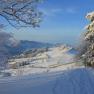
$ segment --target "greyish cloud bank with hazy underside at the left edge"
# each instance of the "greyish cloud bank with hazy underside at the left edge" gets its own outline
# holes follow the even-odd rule
[[[17,43],[11,33],[0,31],[0,67],[5,66],[10,56],[8,47],[14,47]]]

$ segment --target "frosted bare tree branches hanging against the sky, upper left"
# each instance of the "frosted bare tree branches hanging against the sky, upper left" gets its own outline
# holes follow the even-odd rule
[[[39,2],[40,0],[0,0],[0,18],[5,18],[12,26],[37,27],[42,14],[37,9]]]

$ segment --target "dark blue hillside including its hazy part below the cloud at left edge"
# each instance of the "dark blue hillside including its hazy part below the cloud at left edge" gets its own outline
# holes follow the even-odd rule
[[[0,69],[1,67],[5,67],[5,63],[7,63],[7,59],[12,56],[19,55],[27,50],[37,49],[37,48],[47,48],[52,46],[53,45],[49,43],[27,41],[27,40],[21,40],[16,46],[4,44],[0,46]]]

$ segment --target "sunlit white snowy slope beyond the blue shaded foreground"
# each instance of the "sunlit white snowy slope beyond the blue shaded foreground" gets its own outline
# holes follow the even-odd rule
[[[49,48],[48,51],[39,51],[36,56],[20,57],[10,60],[11,68],[4,70],[12,76],[39,74],[43,72],[55,72],[75,68],[75,54],[70,53],[71,47],[64,45]],[[30,54],[30,53],[29,53]],[[27,63],[24,66],[23,63]],[[66,65],[67,64],[67,65]],[[14,66],[16,66],[16,69]]]

